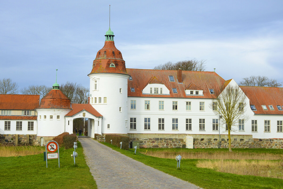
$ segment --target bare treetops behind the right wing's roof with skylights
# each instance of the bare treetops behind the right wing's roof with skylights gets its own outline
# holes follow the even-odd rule
[[[250,76],[242,78],[241,82],[239,83],[243,86],[259,86],[259,87],[280,87],[282,84],[278,82],[276,79],[269,79],[266,76]]]

